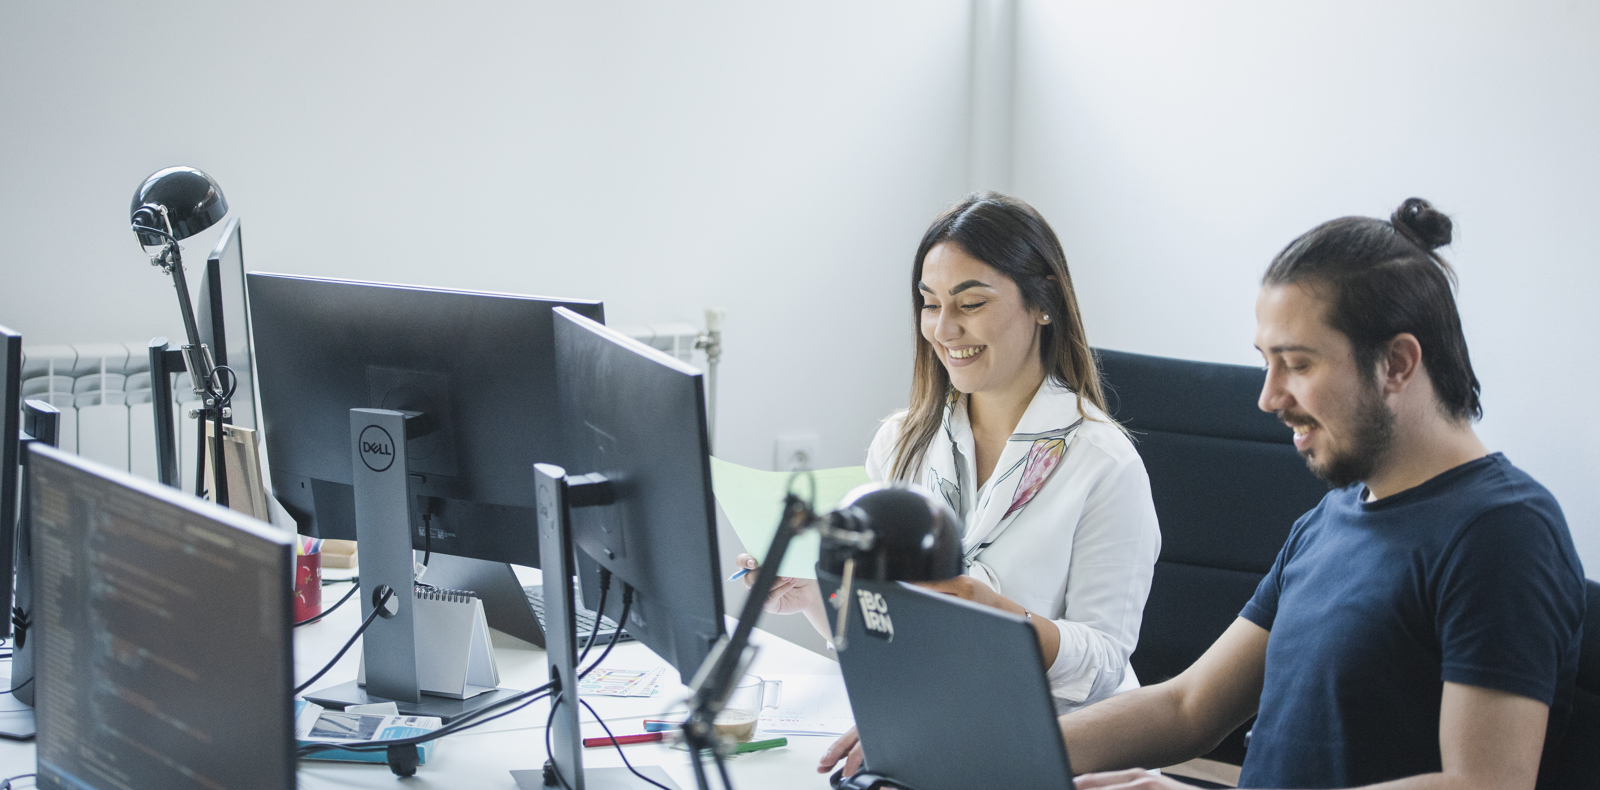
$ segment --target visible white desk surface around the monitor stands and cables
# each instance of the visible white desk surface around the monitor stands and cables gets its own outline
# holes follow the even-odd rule
[[[333,576],[333,573],[330,573]],[[328,585],[323,601],[333,604],[347,587]],[[294,630],[294,675],[304,681],[344,644],[357,625],[360,609],[347,603],[325,620]],[[730,620],[731,622],[731,620]],[[496,659],[501,686],[528,689],[549,680],[544,651],[520,640],[494,632]],[[838,676],[838,664],[784,640],[757,630],[752,641],[762,648],[752,672],[757,675],[832,675]],[[603,644],[595,651],[603,649]],[[360,644],[352,648],[339,664],[317,681],[312,691],[334,686],[355,678]],[[598,652],[595,652],[598,656]],[[5,667],[6,662],[0,662]],[[669,710],[685,710],[682,700],[686,689],[678,683],[677,672],[643,644],[629,641],[618,644],[606,659],[608,667],[653,668],[667,667],[661,691],[653,697],[584,697],[606,718],[616,734],[642,732],[640,720],[659,718]],[[6,675],[8,667],[0,668]],[[13,707],[10,696],[0,697],[0,708]],[[674,707],[675,705],[675,707]],[[315,788],[515,788],[510,771],[539,769],[544,766],[544,721],[549,715],[544,700],[499,718],[482,728],[448,736],[437,742],[432,758],[418,774],[403,784],[384,764],[301,761],[299,787]],[[597,723],[582,712],[584,737],[603,736]],[[766,752],[739,755],[728,763],[734,787],[739,790],[768,788],[826,788],[827,776],[816,772],[818,758],[834,742],[832,737],[787,736],[789,745]],[[688,755],[661,744],[635,744],[622,747],[635,766],[661,766],[683,790],[691,790],[694,771]],[[592,768],[621,768],[616,748],[586,748],[584,764]],[[707,766],[710,768],[710,766]],[[34,744],[0,740],[0,779],[34,771]],[[712,779],[712,787],[718,787]]]

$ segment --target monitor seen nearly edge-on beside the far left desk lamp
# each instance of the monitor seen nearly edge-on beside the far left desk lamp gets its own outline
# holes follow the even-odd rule
[[[218,365],[227,365],[238,379],[234,390],[230,425],[256,427],[256,390],[251,374],[250,310],[245,304],[245,253],[238,217],[222,225],[222,235],[205,261],[200,275],[200,342],[211,349]]]

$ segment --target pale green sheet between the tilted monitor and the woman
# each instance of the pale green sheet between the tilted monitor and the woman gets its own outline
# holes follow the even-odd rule
[[[784,494],[789,491],[790,475],[790,472],[741,467],[720,457],[710,459],[710,486],[717,494],[717,504],[728,517],[733,531],[739,534],[739,541],[744,542],[744,550],[757,560],[766,557],[766,547],[773,544],[773,534],[778,533],[778,518],[784,513]],[[867,467],[818,469],[811,472],[811,477],[816,480],[813,507],[819,513],[826,513],[850,489],[867,483]],[[802,478],[795,481],[795,491],[806,496],[810,486]],[[821,537],[816,531],[795,537],[789,542],[778,574],[816,579],[819,547]]]

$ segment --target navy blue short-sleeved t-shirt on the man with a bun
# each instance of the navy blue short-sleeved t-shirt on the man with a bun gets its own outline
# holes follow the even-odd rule
[[[1550,705],[1578,672],[1584,571],[1555,497],[1499,453],[1294,523],[1242,617],[1272,632],[1240,787],[1354,787],[1440,769],[1443,683]]]

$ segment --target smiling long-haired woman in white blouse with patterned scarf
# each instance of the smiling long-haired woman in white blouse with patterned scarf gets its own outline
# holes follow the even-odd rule
[[[912,403],[883,421],[867,473],[962,515],[966,574],[928,587],[1026,616],[1062,713],[1136,688],[1128,656],[1162,537],[1144,464],[1106,413],[1056,233],[1021,200],[971,195],[923,235],[910,288]],[[814,581],[779,579],[766,609],[829,633]],[[854,744],[840,739],[819,769]],[[846,771],[858,764],[859,750]]]

